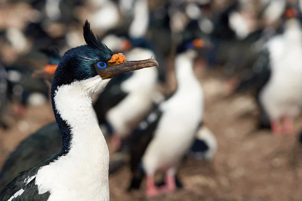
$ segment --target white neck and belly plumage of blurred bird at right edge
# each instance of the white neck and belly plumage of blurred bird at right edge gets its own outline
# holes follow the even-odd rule
[[[295,117],[302,104],[302,32],[296,20],[286,23],[283,43],[272,52],[272,75],[261,91],[260,100],[270,119]],[[274,51],[273,50],[273,51]]]

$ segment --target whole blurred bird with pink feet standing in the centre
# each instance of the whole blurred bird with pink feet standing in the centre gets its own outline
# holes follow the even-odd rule
[[[184,40],[175,59],[177,91],[149,112],[130,139],[132,179],[128,190],[139,188],[146,174],[148,196],[158,195],[154,176],[165,172],[163,191],[176,188],[177,167],[191,147],[203,116],[203,91],[193,72],[194,48],[201,48],[200,39]]]

